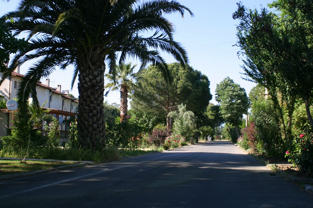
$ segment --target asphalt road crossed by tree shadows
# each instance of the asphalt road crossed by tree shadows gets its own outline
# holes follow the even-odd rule
[[[226,141],[0,181],[0,207],[313,207]]]

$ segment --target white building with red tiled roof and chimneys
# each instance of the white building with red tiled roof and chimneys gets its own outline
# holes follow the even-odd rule
[[[2,73],[0,72],[0,79]],[[12,72],[10,77],[7,77],[0,86],[0,94],[4,96],[5,100],[17,97],[18,85],[24,75],[19,74],[19,68]],[[44,108],[49,109],[50,114],[54,114],[60,122],[61,137],[66,137],[67,127],[62,123],[69,116],[77,115],[75,110],[78,106],[78,101],[69,97],[69,90],[61,92],[61,85],[55,89],[50,87],[50,80],[46,79],[45,85],[41,82],[36,86],[37,97],[39,105],[42,106],[48,101]],[[6,136],[8,129],[12,127],[12,112],[9,109],[0,109],[0,137]]]

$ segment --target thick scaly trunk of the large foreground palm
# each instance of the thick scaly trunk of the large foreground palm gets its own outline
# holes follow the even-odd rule
[[[80,144],[85,149],[105,146],[104,72],[105,57],[95,49],[78,60],[78,117]]]

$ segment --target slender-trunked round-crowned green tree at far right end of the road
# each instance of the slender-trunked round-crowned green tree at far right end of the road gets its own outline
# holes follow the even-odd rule
[[[248,113],[250,105],[245,89],[226,77],[216,85],[215,94],[223,119],[235,127],[239,138],[238,125],[241,123],[242,114]]]

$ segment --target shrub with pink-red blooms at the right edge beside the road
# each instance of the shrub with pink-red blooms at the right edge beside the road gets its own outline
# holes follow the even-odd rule
[[[309,129],[294,140],[294,148],[285,152],[285,157],[302,171],[313,174],[313,131]]]

